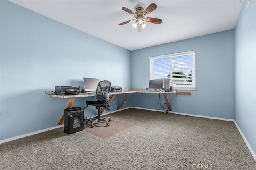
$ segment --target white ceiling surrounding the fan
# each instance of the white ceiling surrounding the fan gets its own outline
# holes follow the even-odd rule
[[[240,0],[11,2],[131,51],[233,29],[243,4]],[[145,9],[151,3],[156,3],[158,8],[147,16],[162,19],[162,24],[146,22],[147,27],[142,32],[132,28],[132,22],[118,25],[134,19],[122,7],[135,12],[138,4]]]

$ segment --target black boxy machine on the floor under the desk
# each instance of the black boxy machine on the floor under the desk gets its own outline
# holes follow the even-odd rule
[[[64,132],[72,134],[84,130],[84,109],[71,107],[64,110]]]

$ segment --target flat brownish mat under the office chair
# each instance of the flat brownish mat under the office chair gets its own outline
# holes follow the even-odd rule
[[[84,130],[86,132],[103,139],[109,138],[129,127],[132,127],[132,125],[114,120],[109,122],[109,126],[106,125],[105,121],[95,122],[93,128],[91,127],[91,121],[89,123],[84,123]]]

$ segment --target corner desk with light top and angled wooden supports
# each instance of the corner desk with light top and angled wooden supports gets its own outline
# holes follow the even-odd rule
[[[170,106],[170,103],[169,103],[169,100],[168,100],[168,97],[167,97],[167,94],[168,93],[176,93],[175,91],[172,91],[172,92],[162,92],[162,91],[158,91],[158,92],[152,92],[152,91],[145,91],[145,90],[135,90],[135,91],[124,91],[124,92],[111,92],[111,97],[109,99],[109,103],[111,103],[111,101],[114,99],[114,97],[118,94],[127,94],[126,98],[122,101],[122,103],[117,107],[117,110],[119,110],[122,105],[126,102],[126,100],[130,97],[130,95],[132,93],[163,93],[164,95],[164,99],[166,101],[166,104],[167,104],[167,107],[169,109],[169,111],[172,111],[172,108]],[[57,97],[57,98],[62,98],[62,99],[66,99],[66,98],[69,98],[68,100],[68,103],[65,107],[65,109],[67,108],[70,108],[72,106],[72,104],[74,103],[75,99],[77,97],[92,97],[92,96],[95,96],[95,93],[91,93],[91,94],[86,94],[86,93],[82,93],[82,94],[79,94],[79,95],[50,95],[51,97]],[[102,114],[103,112],[105,111],[105,108],[102,109],[101,113]],[[58,124],[57,125],[62,125],[62,122],[64,121],[64,111],[58,121]]]

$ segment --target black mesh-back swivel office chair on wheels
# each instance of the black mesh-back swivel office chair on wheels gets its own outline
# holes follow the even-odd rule
[[[111,82],[108,80],[103,80],[98,83],[97,90],[96,90],[96,99],[97,101],[86,101],[87,105],[96,106],[96,109],[98,109],[98,115],[96,118],[89,118],[86,119],[86,123],[89,123],[89,120],[92,121],[91,127],[94,127],[94,123],[96,121],[105,121],[107,123],[107,126],[109,126],[108,121],[110,122],[111,119],[109,117],[100,117],[100,108],[105,107],[106,110],[109,110],[109,99],[110,99],[110,89],[111,89]],[[108,121],[105,119],[108,118]]]

